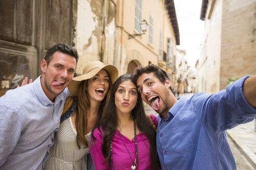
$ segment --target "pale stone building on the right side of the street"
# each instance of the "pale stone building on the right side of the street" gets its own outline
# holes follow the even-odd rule
[[[225,89],[229,78],[256,74],[255,6],[255,0],[202,1],[199,92],[213,93]]]

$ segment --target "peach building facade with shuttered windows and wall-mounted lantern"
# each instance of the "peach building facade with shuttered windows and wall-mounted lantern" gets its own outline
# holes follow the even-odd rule
[[[134,68],[157,64],[174,76],[174,58],[180,36],[173,1],[136,0],[117,1],[116,32],[118,35],[114,56],[121,74]],[[140,23],[147,22],[147,31]],[[174,81],[172,81],[174,82]]]

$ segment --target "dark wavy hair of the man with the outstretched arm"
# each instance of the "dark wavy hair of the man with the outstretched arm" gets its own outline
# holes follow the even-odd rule
[[[155,64],[149,64],[149,65],[147,65],[145,67],[139,66],[139,67],[137,67],[134,70],[134,72],[132,74],[132,81],[133,81],[133,83],[135,83],[137,85],[137,79],[138,79],[139,76],[141,76],[144,73],[151,73],[151,72],[153,72],[153,74],[163,84],[165,82],[165,78],[168,78],[170,80],[168,74],[162,68],[158,67]],[[170,89],[172,91],[172,87],[171,86],[170,86]]]

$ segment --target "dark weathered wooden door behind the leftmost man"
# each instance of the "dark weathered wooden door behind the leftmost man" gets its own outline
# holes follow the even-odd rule
[[[0,96],[24,78],[41,75],[46,50],[59,43],[73,45],[72,1],[0,1]]]

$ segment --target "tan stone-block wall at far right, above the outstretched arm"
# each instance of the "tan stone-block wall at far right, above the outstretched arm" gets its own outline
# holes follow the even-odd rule
[[[256,1],[223,1],[220,89],[228,78],[256,74]]]

